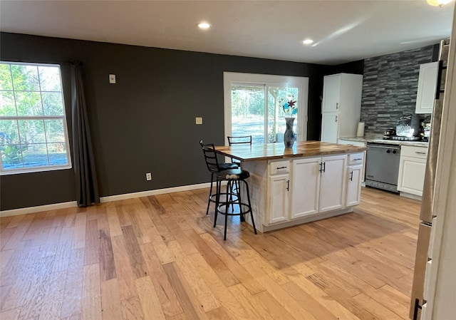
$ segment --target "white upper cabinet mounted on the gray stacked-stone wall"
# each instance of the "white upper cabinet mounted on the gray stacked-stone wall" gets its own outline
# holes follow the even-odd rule
[[[416,94],[415,113],[432,113],[437,87],[439,62],[423,63],[420,65],[418,92]]]

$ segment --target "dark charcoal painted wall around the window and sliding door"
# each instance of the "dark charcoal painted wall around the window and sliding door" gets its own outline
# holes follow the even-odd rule
[[[332,67],[113,43],[1,33],[1,59],[83,61],[100,195],[209,180],[198,141],[224,143],[223,72],[308,76],[309,140],[320,134],[323,75]],[[68,64],[63,86],[70,107]],[[108,83],[115,73],[117,83]],[[71,125],[71,112],[67,109]],[[204,125],[195,125],[195,117]],[[71,133],[70,133],[71,134]],[[152,172],[153,180],[145,180]],[[73,170],[4,175],[0,209],[76,199]]]

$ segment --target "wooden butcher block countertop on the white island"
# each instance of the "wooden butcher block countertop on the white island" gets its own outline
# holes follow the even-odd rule
[[[356,153],[366,150],[354,145],[338,145],[320,141],[296,142],[294,147],[286,149],[284,143],[266,143],[264,145],[217,146],[217,153],[240,161],[273,160],[285,158],[309,157],[312,155],[336,155]]]

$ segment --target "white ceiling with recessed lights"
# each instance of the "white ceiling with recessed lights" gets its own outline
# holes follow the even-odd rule
[[[454,4],[401,1],[0,1],[0,29],[338,64],[450,36]],[[212,28],[200,31],[199,21]],[[304,38],[314,46],[304,46]]]

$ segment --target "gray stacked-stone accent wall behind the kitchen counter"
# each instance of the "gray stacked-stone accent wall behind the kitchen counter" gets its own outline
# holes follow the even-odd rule
[[[414,114],[420,64],[436,60],[438,45],[364,60],[361,121],[383,134],[400,115]]]

